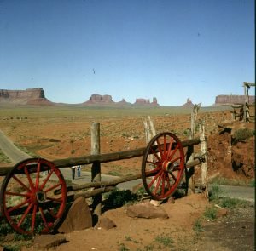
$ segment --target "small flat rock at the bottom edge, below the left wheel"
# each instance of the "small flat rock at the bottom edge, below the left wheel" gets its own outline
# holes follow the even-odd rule
[[[62,243],[65,242],[67,242],[66,237],[61,234],[42,235],[35,237],[33,247],[38,250],[49,249],[56,246],[60,246]]]

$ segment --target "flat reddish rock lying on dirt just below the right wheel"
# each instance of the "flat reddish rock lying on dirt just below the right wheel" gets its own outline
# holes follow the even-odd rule
[[[130,206],[126,210],[126,214],[130,217],[138,217],[138,218],[146,218],[146,219],[154,219],[154,218],[169,218],[166,211],[162,208],[156,208],[148,203],[139,203]]]

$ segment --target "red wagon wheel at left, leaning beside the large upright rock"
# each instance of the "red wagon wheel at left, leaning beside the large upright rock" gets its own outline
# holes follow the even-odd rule
[[[60,195],[54,190],[61,189]],[[47,233],[61,222],[67,202],[67,186],[61,171],[43,158],[20,163],[3,180],[1,213],[21,233]]]

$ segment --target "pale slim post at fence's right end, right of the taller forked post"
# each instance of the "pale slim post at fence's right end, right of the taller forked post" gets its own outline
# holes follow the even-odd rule
[[[207,140],[205,136],[205,125],[201,121],[199,124],[200,129],[200,141],[201,141],[201,153],[204,154],[204,162],[201,163],[201,187],[205,193],[205,197],[208,195],[208,178],[207,178]]]

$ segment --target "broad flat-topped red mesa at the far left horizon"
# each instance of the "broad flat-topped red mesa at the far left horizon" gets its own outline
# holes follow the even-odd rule
[[[43,88],[27,88],[26,90],[0,89],[0,103],[52,105],[52,103],[45,98]]]

